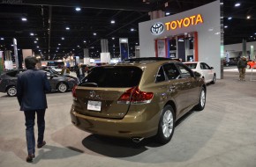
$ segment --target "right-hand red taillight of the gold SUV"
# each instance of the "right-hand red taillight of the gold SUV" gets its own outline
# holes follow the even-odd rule
[[[153,92],[140,91],[138,87],[133,87],[124,92],[118,99],[118,104],[147,104],[154,96]]]

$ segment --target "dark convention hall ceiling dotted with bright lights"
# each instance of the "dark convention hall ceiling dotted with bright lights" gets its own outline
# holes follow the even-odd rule
[[[139,22],[150,19],[148,12],[162,10],[173,15],[211,2],[214,1],[1,0],[0,48],[13,50],[15,38],[19,52],[31,48],[35,54],[58,58],[82,56],[83,48],[89,48],[91,57],[99,57],[101,39],[108,39],[109,52],[118,56],[119,38],[128,38],[131,50],[139,46]],[[240,5],[235,6],[237,3]],[[225,45],[241,43],[243,39],[255,41],[256,1],[224,0],[223,16]]]

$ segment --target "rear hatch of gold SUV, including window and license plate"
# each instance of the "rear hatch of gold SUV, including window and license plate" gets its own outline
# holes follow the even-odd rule
[[[136,66],[102,66],[91,69],[81,84],[73,89],[75,111],[94,117],[124,118],[131,104],[134,90],[131,88],[138,88],[142,73],[142,69]],[[129,98],[129,101],[124,98]]]

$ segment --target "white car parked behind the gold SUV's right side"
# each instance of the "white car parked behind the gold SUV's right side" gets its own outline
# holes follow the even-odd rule
[[[213,67],[210,67],[206,62],[184,62],[190,69],[197,71],[205,79],[206,84],[215,84],[216,73]]]

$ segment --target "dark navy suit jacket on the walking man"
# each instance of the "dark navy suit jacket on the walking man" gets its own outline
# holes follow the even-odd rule
[[[18,75],[17,98],[20,111],[47,108],[46,92],[50,84],[46,73],[38,69],[27,69]]]

